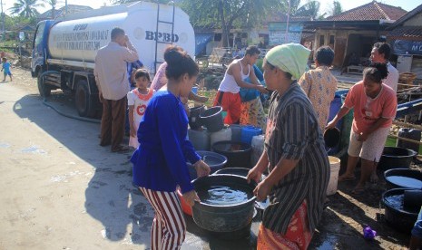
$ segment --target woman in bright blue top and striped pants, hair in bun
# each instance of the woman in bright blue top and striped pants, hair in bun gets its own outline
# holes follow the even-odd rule
[[[181,97],[191,92],[199,72],[198,65],[180,47],[164,52],[167,90],[152,97],[138,129],[140,146],[132,155],[133,182],[155,211],[151,229],[152,249],[179,249],[186,234],[176,187],[193,206],[199,201],[191,185],[186,161],[196,168],[198,177],[210,174],[210,167],[195,152],[187,139],[188,117]]]

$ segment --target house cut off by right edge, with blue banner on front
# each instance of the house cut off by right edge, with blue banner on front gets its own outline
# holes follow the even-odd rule
[[[414,72],[422,80],[422,5],[399,18],[388,31],[398,72]]]

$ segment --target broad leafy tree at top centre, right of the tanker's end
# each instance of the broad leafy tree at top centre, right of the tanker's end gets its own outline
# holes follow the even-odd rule
[[[221,28],[222,46],[229,46],[233,27],[259,24],[270,13],[285,9],[280,0],[182,0],[182,9],[189,14],[193,26]]]

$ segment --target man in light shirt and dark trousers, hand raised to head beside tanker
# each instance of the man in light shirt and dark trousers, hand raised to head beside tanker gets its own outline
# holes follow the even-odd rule
[[[129,150],[121,145],[126,94],[131,90],[126,66],[136,62],[139,56],[123,29],[113,28],[111,37],[112,41],[98,51],[93,69],[100,101],[103,102],[100,145],[112,145],[113,152],[123,152]]]

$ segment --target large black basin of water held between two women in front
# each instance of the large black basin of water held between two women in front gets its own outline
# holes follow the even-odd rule
[[[195,190],[198,192],[201,202],[195,202],[192,207],[193,221],[196,225],[211,232],[237,232],[245,227],[250,228],[254,214],[253,189],[256,184],[248,184],[246,178],[233,175],[212,175],[192,180]],[[212,187],[231,187],[239,189],[248,194],[248,197],[241,199],[239,203],[230,205],[214,205],[204,202],[204,190]],[[205,195],[206,196],[206,195]]]

